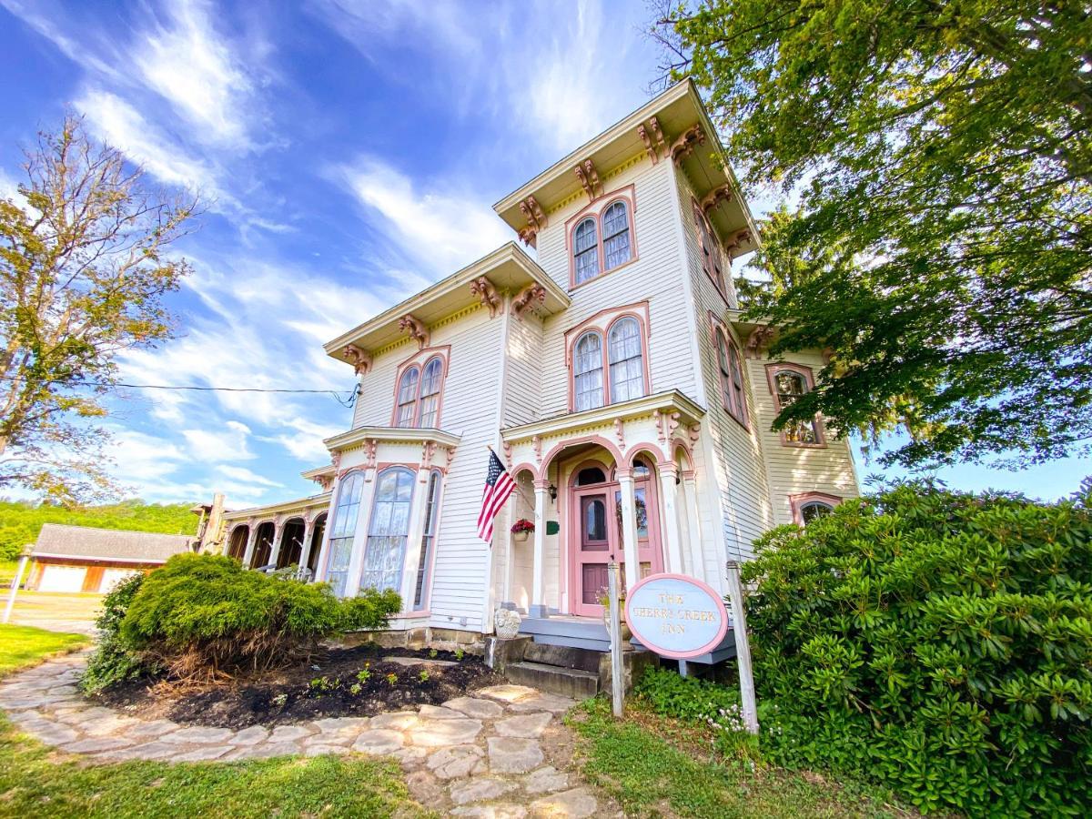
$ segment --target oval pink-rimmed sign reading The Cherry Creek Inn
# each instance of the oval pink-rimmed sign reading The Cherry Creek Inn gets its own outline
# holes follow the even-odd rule
[[[721,595],[700,580],[650,574],[626,595],[626,622],[649,651],[687,660],[720,645],[728,613]]]

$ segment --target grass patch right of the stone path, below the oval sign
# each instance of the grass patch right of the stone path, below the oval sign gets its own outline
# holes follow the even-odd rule
[[[717,759],[709,740],[680,724],[638,709],[615,722],[605,700],[568,717],[580,737],[583,773],[607,791],[627,816],[656,817],[899,817],[907,811],[853,783],[831,783],[756,764]],[[757,755],[755,755],[757,756]]]

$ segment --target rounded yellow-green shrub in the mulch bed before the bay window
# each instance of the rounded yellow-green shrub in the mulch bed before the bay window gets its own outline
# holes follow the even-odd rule
[[[399,595],[337,600],[324,583],[268,577],[212,555],[176,555],[149,574],[121,639],[179,679],[211,680],[308,656],[347,629],[382,628]]]

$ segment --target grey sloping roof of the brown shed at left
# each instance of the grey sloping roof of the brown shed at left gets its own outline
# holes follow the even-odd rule
[[[132,563],[162,563],[171,555],[190,550],[189,535],[129,532],[45,523],[33,557],[73,557],[84,560],[115,560]]]

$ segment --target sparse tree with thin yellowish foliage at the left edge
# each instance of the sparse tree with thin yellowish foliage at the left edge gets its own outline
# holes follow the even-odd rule
[[[170,335],[163,296],[189,265],[167,251],[195,201],[150,189],[74,116],[24,169],[25,201],[0,199],[0,487],[71,505],[112,489],[95,419],[118,354]]]

